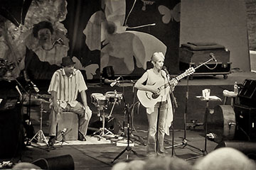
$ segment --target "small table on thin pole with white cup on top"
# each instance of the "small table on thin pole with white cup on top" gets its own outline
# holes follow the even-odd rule
[[[204,124],[205,124],[205,148],[204,153],[208,154],[207,152],[207,110],[209,108],[209,101],[221,101],[221,98],[218,96],[209,96],[209,98],[203,98],[203,96],[196,96],[196,98],[199,98],[201,101],[206,101],[206,113],[204,118]]]

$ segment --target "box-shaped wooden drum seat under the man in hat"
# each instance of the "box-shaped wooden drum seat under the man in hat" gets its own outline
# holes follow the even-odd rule
[[[60,121],[57,127],[57,140],[62,140],[61,131],[66,129],[65,140],[78,140],[78,115],[72,112],[60,114]]]

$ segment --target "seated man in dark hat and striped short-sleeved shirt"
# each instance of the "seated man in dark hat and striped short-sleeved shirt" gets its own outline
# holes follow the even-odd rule
[[[48,144],[54,145],[56,135],[56,125],[60,120],[62,112],[72,112],[78,114],[78,140],[85,141],[88,124],[92,116],[92,111],[87,106],[85,91],[87,86],[80,70],[75,69],[75,62],[70,57],[63,57],[62,67],[54,72],[50,81],[48,93],[51,94],[53,106],[51,107],[49,121],[50,139]],[[82,103],[76,101],[78,91],[81,94]]]

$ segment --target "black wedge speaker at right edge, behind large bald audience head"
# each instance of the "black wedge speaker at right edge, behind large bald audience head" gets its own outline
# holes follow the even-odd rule
[[[243,142],[243,141],[223,141],[220,142],[215,149],[220,147],[232,147],[234,149],[238,149],[240,152],[246,154],[251,159],[255,159],[256,157],[256,142]]]

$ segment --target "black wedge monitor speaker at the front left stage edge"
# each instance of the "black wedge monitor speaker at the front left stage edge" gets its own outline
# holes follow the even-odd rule
[[[73,170],[75,169],[75,164],[73,157],[70,154],[65,154],[59,157],[41,158],[32,162],[36,166],[41,167],[41,169],[48,170]]]

